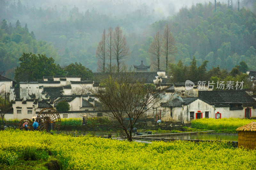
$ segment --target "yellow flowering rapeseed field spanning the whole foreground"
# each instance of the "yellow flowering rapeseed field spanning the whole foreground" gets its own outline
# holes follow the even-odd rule
[[[51,151],[64,169],[255,169],[256,151],[225,142],[137,142],[97,137],[50,135],[38,131],[0,131],[0,164],[12,162],[24,150]],[[12,156],[13,155],[13,156]]]

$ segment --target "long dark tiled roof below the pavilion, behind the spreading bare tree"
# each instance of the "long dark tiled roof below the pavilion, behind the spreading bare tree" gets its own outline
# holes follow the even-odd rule
[[[92,73],[94,80],[101,80],[108,76],[112,76],[114,78],[121,78],[124,75],[131,75],[133,80],[142,80],[145,81],[146,84],[153,84],[153,80],[156,79],[157,72],[126,72],[126,73]]]

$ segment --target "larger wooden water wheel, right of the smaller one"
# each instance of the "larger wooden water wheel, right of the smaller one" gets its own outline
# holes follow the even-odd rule
[[[39,124],[39,130],[50,131],[60,129],[60,115],[53,108],[41,110],[36,117],[36,122]]]

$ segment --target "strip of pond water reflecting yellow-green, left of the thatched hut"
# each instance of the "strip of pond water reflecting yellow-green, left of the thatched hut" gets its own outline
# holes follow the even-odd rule
[[[161,138],[168,139],[195,139],[195,140],[226,140],[238,141],[238,134],[225,134],[225,133],[203,133],[203,134],[186,134],[186,135],[165,135]]]

